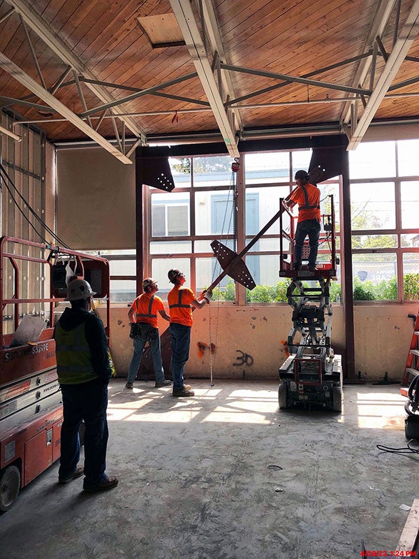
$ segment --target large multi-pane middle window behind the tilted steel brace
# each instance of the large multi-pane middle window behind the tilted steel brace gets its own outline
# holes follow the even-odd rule
[[[244,155],[244,245],[249,244],[260,228],[279,211],[280,198],[288,196],[295,187],[295,170],[307,169],[310,159],[311,150]],[[159,194],[155,189],[145,189],[145,205],[147,207],[148,200],[152,208],[152,224],[147,242],[148,269],[152,270],[153,277],[160,280],[159,295],[163,299],[170,289],[170,286],[164,287],[170,268],[182,269],[187,284],[197,294],[221,274],[222,268],[210,247],[212,240],[219,240],[238,252],[234,240],[238,204],[234,197],[236,177],[231,172],[232,161],[225,156],[170,160],[176,191],[168,195]],[[330,181],[322,184],[321,188],[324,191],[322,212],[330,211],[328,195],[334,194],[339,215],[339,182]],[[170,208],[181,203],[185,204],[185,208],[189,203],[189,226],[184,221],[182,230],[179,228],[175,234],[169,235],[167,216]],[[182,240],[181,236],[186,237],[187,241],[186,238]],[[181,243],[189,243],[189,246]],[[319,259],[324,258],[326,255],[320,251]],[[286,303],[288,281],[279,279],[279,219],[251,247],[244,260],[257,284],[255,289],[247,291],[247,301]],[[335,291],[333,293],[337,296],[340,284]],[[236,300],[233,279],[226,276],[221,280],[216,297],[226,301]]]

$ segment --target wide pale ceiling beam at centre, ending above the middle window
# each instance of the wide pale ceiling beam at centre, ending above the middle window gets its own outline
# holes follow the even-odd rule
[[[184,36],[184,41],[189,49],[189,54],[198,72],[207,99],[210,102],[216,123],[223,135],[227,150],[231,157],[240,157],[239,150],[237,150],[236,131],[233,129],[224,108],[223,99],[214,78],[212,67],[205,51],[204,41],[193,15],[191,3],[189,0],[170,0],[170,6],[172,6],[172,10],[175,12],[177,23]]]

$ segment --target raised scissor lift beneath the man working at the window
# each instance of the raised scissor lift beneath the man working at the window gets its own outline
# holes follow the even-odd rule
[[[279,368],[279,407],[321,405],[341,411],[343,375],[341,356],[331,345],[332,305],[330,280],[337,279],[335,212],[330,196],[330,214],[322,215],[317,270],[304,265],[309,246],[304,245],[303,266],[293,270],[295,219],[281,200],[281,261],[279,276],[289,277],[288,305],[293,307],[293,328],[288,334],[290,355]],[[288,250],[286,250],[288,247]],[[290,261],[288,261],[288,256]]]

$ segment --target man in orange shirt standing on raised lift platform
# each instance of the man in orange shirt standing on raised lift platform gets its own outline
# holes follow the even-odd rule
[[[297,188],[291,196],[284,201],[289,207],[298,204],[298,221],[295,230],[294,247],[294,270],[301,270],[302,248],[304,240],[309,235],[309,270],[316,270],[316,259],[318,251],[318,238],[321,229],[320,214],[320,190],[309,183],[309,175],[305,170],[297,170],[295,173]]]

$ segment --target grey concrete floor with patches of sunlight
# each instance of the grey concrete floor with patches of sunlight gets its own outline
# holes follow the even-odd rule
[[[191,382],[196,397],[110,387],[112,491],[58,464],[0,516],[4,559],[325,559],[397,548],[419,497],[397,385],[345,386],[344,412],[281,410],[277,382]]]

